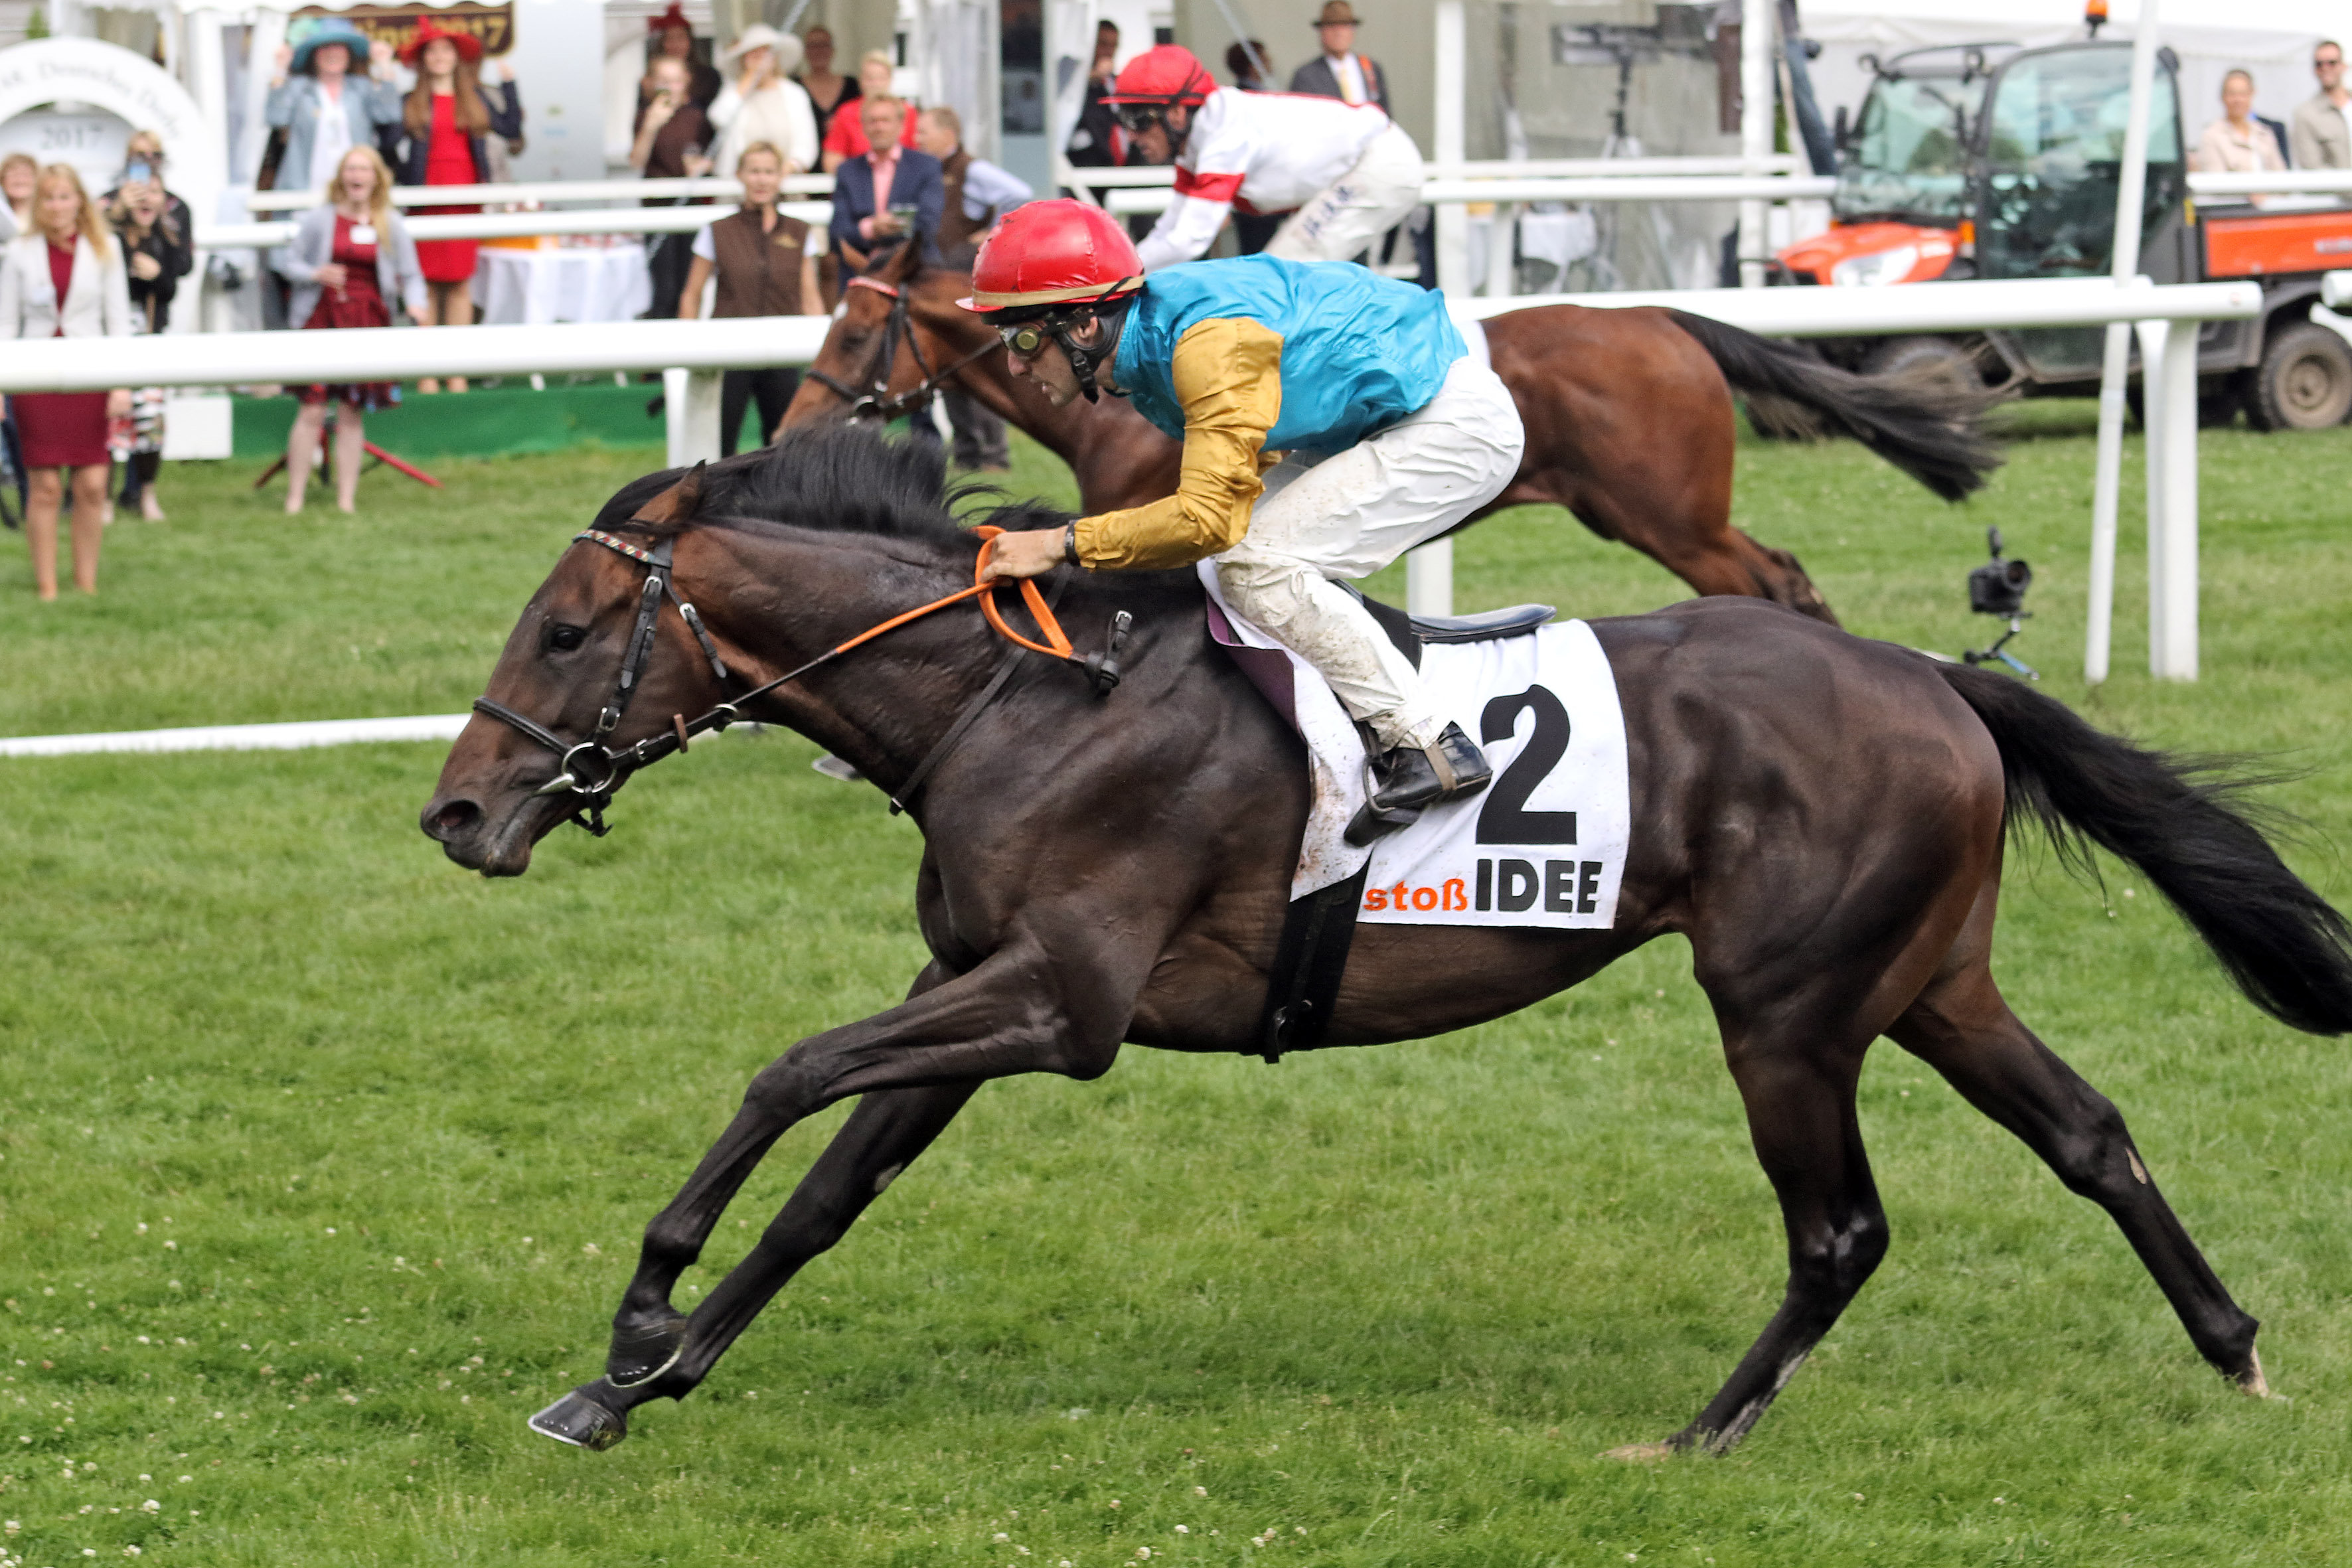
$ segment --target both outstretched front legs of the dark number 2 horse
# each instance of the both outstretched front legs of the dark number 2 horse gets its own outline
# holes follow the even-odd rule
[[[804,1039],[769,1063],[743,1110],[680,1194],[644,1229],[637,1274],[614,1314],[607,1375],[532,1418],[560,1441],[609,1448],[626,1413],[677,1399],[708,1375],[767,1300],[833,1246],[978,1084],[1016,1072],[1103,1074],[1120,1048],[1138,976],[1044,959],[1040,943],[1000,950],[967,976],[901,1006]],[[934,971],[924,971],[931,980]],[[677,1276],[701,1255],[727,1201],[793,1124],[868,1095],[762,1234],[760,1246],[694,1312],[670,1307]]]

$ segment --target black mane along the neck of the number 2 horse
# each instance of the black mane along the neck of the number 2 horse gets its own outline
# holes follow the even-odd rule
[[[687,477],[670,468],[630,480],[595,517],[597,529],[680,534],[689,527],[757,529],[783,524],[826,534],[870,534],[938,545],[967,545],[967,527],[1051,529],[1068,520],[1042,501],[1007,501],[957,517],[960,501],[1000,494],[988,484],[948,484],[936,442],[894,442],[866,423],[802,425],[781,444],[703,465],[701,501],[684,517],[637,522],[637,512]]]

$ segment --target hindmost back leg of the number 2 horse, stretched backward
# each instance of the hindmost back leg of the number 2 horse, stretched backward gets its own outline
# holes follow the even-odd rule
[[[2009,1011],[1980,952],[1929,983],[1889,1034],[2025,1140],[2067,1190],[2105,1208],[2197,1352],[2249,1394],[2270,1394],[2256,1319],[2230,1300],[2157,1192],[2124,1117]]]

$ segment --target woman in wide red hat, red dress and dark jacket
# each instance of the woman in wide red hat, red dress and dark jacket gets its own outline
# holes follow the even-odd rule
[[[452,33],[430,16],[419,24],[416,35],[400,49],[400,61],[416,68],[416,87],[402,106],[402,129],[407,132],[407,155],[400,160],[402,186],[487,186],[489,148],[485,134],[515,139],[522,134],[522,103],[515,85],[503,80],[506,66],[492,61],[496,73],[496,106],[482,92],[482,40],[473,33]],[[433,212],[482,212],[480,207],[419,207],[416,216]],[[473,327],[473,268],[480,252],[477,240],[423,240],[416,259],[426,270],[428,306],[426,327]],[[437,393],[440,383],[426,376],[419,393]],[[449,378],[452,393],[466,390],[463,376]]]

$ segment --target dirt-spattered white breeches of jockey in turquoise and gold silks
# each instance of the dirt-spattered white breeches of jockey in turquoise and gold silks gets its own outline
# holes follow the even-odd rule
[[[1383,748],[1435,745],[1444,715],[1381,623],[1331,578],[1371,576],[1494,501],[1519,473],[1526,433],[1510,388],[1470,357],[1437,397],[1327,458],[1291,454],[1265,473],[1249,531],[1216,557],[1237,614],[1331,682]]]

